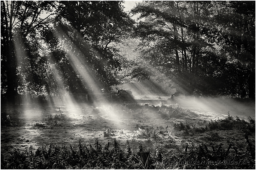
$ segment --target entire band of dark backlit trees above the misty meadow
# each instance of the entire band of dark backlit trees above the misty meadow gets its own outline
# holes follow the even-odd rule
[[[1,1],[1,97],[102,93],[158,77],[255,97],[254,1]]]

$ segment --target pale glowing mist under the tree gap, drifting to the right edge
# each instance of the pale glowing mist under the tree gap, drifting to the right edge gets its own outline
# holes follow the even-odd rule
[[[247,120],[255,118],[255,101],[248,98],[230,98],[227,96],[186,96],[175,95],[176,89],[158,83],[154,80],[127,83],[119,87],[129,89],[138,103],[148,104],[178,104],[194,111],[212,112],[216,114],[238,116]],[[173,95],[173,96],[172,96]]]

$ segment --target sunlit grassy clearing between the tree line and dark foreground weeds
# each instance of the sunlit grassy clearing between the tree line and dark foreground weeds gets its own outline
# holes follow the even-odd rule
[[[235,150],[245,153],[248,144],[244,134],[247,131],[248,140],[255,150],[255,119],[245,120],[247,123],[254,120],[253,132],[251,129],[237,129],[236,123],[241,121],[238,117],[232,117],[232,112],[214,113],[200,107],[184,108],[179,104],[162,103],[109,104],[101,107],[83,104],[72,108],[1,106],[1,159],[14,150],[22,152],[32,146],[36,151],[51,142],[77,147],[79,142],[89,145],[97,139],[102,145],[109,141],[114,146],[114,138],[122,148],[125,148],[126,141],[130,141],[132,153],[137,152],[139,142],[143,142],[152,153],[160,146],[167,157],[170,152],[183,153],[203,144],[207,147],[221,146],[225,150],[232,144],[234,154]],[[226,127],[227,123],[222,120],[235,124],[232,124],[233,128]]]

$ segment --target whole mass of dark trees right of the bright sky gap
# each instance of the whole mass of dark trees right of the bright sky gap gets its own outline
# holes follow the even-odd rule
[[[255,2],[145,1],[135,36],[179,92],[255,97]]]

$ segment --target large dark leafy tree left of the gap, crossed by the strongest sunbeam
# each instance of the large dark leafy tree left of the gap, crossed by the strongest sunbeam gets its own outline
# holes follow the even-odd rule
[[[118,53],[118,44],[124,43],[133,26],[133,20],[123,11],[121,2],[65,1],[60,3],[59,14],[55,34],[66,42],[71,54],[68,62],[74,62],[77,57],[86,73],[73,67],[75,74],[89,76],[80,79],[83,81],[81,88],[109,91],[111,85],[119,84],[115,77],[122,69],[123,57]]]

